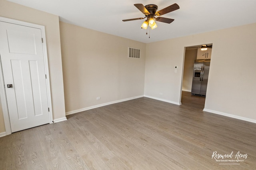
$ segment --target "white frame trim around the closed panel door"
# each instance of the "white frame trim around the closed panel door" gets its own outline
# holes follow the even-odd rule
[[[49,123],[53,123],[50,76],[49,76],[49,66],[48,66],[48,56],[47,56],[47,49],[46,49],[46,36],[45,36],[44,26],[37,25],[34,23],[28,23],[24,21],[13,20],[10,18],[4,18],[4,17],[0,17],[0,21],[41,29],[42,41],[43,41],[42,45],[43,45],[43,53],[44,53],[44,70],[46,74],[46,90],[47,90],[47,99],[48,99],[48,107],[49,107]],[[12,131],[11,131],[10,118],[8,113],[6,92],[4,88],[4,76],[2,71],[2,63],[0,63],[0,96],[1,96],[3,115],[4,115],[5,132],[6,132],[6,135],[10,135]]]

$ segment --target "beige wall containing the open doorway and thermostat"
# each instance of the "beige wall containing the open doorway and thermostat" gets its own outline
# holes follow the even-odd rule
[[[255,30],[253,23],[147,44],[145,95],[180,102],[184,47],[213,43],[205,109],[256,120]]]

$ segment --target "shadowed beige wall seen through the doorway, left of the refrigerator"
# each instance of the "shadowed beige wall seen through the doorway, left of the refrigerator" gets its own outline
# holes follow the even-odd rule
[[[194,61],[196,60],[197,49],[186,50],[183,68],[182,90],[191,92]]]

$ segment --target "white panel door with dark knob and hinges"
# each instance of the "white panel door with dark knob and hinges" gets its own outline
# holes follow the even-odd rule
[[[0,57],[12,132],[50,123],[41,29],[0,21]]]

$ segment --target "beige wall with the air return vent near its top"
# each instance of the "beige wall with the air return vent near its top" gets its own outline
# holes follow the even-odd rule
[[[60,37],[66,112],[144,95],[145,43],[64,22]]]

